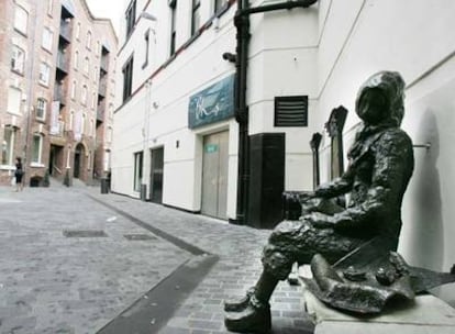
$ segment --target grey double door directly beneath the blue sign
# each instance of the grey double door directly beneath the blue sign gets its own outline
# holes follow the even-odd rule
[[[203,138],[202,214],[226,220],[229,132]]]

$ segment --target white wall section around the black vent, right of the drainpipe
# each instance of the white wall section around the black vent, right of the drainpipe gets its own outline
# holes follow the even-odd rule
[[[286,190],[312,189],[309,142],[318,120],[318,7],[251,16],[248,132],[286,133]],[[307,127],[274,126],[275,97],[281,96],[309,96]]]

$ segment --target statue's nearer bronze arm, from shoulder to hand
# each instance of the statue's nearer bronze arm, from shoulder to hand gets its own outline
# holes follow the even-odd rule
[[[386,133],[375,149],[371,187],[359,205],[333,215],[335,230],[376,229],[400,210],[403,187],[413,168],[412,142],[404,132]]]

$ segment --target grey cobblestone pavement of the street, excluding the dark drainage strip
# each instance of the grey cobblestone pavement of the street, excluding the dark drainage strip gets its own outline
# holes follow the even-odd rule
[[[93,187],[0,188],[0,333],[96,333],[193,257],[132,216],[220,258],[149,333],[228,333],[222,301],[254,283],[269,234]],[[300,296],[278,286],[273,333],[311,333]]]

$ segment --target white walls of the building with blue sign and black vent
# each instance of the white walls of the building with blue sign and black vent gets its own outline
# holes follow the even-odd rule
[[[162,1],[163,2],[163,1]],[[233,15],[236,7],[221,15],[218,29],[213,25],[185,48],[163,70],[152,78],[149,91],[141,86],[168,58],[170,15],[167,3],[152,1],[146,9],[158,18],[156,22],[141,19],[131,41],[118,56],[118,82],[122,82],[121,67],[134,53],[133,91],[140,88],[133,99],[115,113],[114,152],[112,154],[112,189],[132,197],[134,164],[133,154],[143,151],[145,170],[143,183],[148,185],[148,148],[165,147],[164,194],[165,204],[190,211],[201,208],[202,138],[203,135],[229,130],[229,186],[228,216],[235,219],[237,183],[238,125],[234,119],[188,129],[189,98],[208,86],[234,73],[233,64],[222,59],[225,52],[235,53],[235,27]],[[212,2],[212,1],[210,1]],[[202,13],[208,20],[212,12],[210,2],[201,2]],[[257,2],[254,5],[259,5]],[[190,8],[184,1],[177,9],[178,49],[189,38]],[[137,15],[141,1],[137,1]],[[186,13],[186,14],[185,14]],[[184,29],[181,27],[184,26]],[[297,30],[296,30],[297,26]],[[151,63],[142,68],[143,36],[147,29],[156,30],[156,48],[151,42]],[[289,41],[281,35],[295,30]],[[317,48],[318,10],[296,9],[252,16],[252,43],[249,54],[247,103],[249,104],[249,134],[262,132],[286,132],[286,189],[312,188],[311,152],[309,141],[311,126],[315,122],[317,107]],[[180,33],[180,34],[179,34]],[[122,35],[121,38],[122,40]],[[286,43],[285,43],[286,42]],[[122,43],[120,43],[122,45]],[[290,63],[289,63],[290,62]],[[122,85],[118,85],[122,104]],[[274,127],[275,96],[309,94],[309,127]],[[148,105],[148,108],[147,108]],[[154,107],[155,105],[155,107]],[[149,111],[147,114],[146,111]],[[147,125],[148,124],[148,125]],[[143,135],[144,133],[144,135]],[[176,143],[179,147],[176,147]],[[115,171],[115,169],[118,169]],[[148,186],[147,186],[148,188]]]

